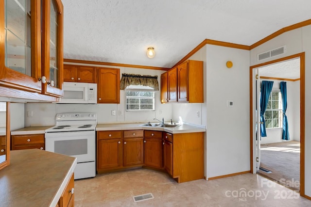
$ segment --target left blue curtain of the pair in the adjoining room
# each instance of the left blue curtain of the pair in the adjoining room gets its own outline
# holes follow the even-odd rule
[[[261,95],[260,95],[260,130],[261,130],[261,137],[266,137],[266,124],[263,118],[263,114],[267,109],[267,104],[269,100],[269,96],[272,91],[273,81],[266,81],[263,80],[261,82]]]

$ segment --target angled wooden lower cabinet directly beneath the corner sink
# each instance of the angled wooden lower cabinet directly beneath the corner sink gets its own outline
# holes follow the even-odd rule
[[[144,131],[145,166],[163,169],[162,131]]]

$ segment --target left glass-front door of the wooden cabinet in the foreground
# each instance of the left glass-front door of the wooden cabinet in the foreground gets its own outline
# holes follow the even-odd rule
[[[41,2],[0,0],[0,85],[41,93]]]

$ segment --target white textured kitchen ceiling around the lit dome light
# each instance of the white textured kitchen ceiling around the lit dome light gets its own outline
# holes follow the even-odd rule
[[[172,67],[204,39],[250,46],[311,19],[311,0],[62,0],[64,58]],[[146,56],[155,48],[155,58]]]

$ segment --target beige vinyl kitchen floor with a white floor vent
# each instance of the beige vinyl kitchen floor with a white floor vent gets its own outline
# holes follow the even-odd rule
[[[96,175],[75,184],[75,207],[311,207],[311,200],[260,175],[177,183],[149,169]],[[152,193],[154,199],[134,202]]]

